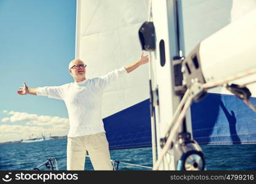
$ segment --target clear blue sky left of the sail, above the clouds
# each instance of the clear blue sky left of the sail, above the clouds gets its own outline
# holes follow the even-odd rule
[[[16,91],[23,82],[29,88],[72,82],[68,64],[75,56],[76,0],[1,0],[0,28],[0,130],[32,125],[28,118],[18,118],[21,112],[41,119],[68,118],[64,102]]]

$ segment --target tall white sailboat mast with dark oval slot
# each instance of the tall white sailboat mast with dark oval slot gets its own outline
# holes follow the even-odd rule
[[[184,54],[184,37],[182,28],[181,1],[152,1],[152,21],[155,26],[156,50],[152,56],[152,67],[150,73],[152,91],[157,91],[158,104],[153,105],[155,118],[155,132],[157,137],[157,155],[161,155],[162,145],[165,140],[165,131],[173,118],[174,111],[180,101],[174,91],[174,67],[175,59]],[[182,75],[181,75],[182,77]],[[153,92],[154,93],[154,92]],[[191,132],[190,110],[188,110],[184,121],[185,130]],[[184,128],[183,127],[183,128]],[[180,128],[182,131],[182,128]],[[178,136],[178,134],[177,134]],[[177,136],[175,136],[177,139]],[[176,140],[173,140],[176,142]],[[153,144],[152,144],[153,145]],[[176,170],[175,153],[168,151],[163,163],[158,167],[161,170]],[[153,162],[154,163],[154,162]]]

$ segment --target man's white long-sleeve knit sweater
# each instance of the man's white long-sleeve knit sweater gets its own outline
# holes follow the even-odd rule
[[[68,137],[105,132],[101,117],[103,91],[106,85],[127,74],[125,67],[102,77],[72,82],[61,86],[37,88],[36,94],[65,102],[69,114]]]

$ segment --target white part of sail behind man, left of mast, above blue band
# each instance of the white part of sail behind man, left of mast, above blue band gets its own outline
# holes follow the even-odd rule
[[[147,20],[147,0],[77,0],[76,58],[87,77],[106,74],[139,59],[138,29]],[[106,89],[103,118],[149,98],[147,66]]]

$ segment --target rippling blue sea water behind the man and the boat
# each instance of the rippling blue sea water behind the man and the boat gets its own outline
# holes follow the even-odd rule
[[[0,170],[31,170],[50,157],[66,170],[67,139],[0,145]],[[207,170],[256,170],[256,145],[202,145]],[[111,159],[122,163],[152,167],[151,148],[111,150]],[[42,170],[46,170],[42,167]],[[93,170],[86,158],[85,170]],[[119,164],[118,170],[150,170]]]

